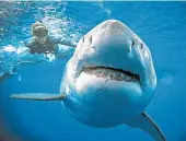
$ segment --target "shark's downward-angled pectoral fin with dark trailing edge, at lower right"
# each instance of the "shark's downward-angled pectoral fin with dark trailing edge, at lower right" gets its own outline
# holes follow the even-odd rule
[[[137,116],[135,119],[127,122],[128,126],[132,128],[139,128],[149,132],[155,141],[166,141],[163,132],[155,125],[155,122],[144,113]]]

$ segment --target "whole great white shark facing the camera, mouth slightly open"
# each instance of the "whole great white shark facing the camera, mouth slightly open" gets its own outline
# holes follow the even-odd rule
[[[156,141],[165,137],[144,113],[156,87],[148,46],[124,23],[105,21],[78,43],[59,94],[13,94],[12,98],[61,101],[78,121],[96,128],[139,128]]]

